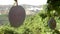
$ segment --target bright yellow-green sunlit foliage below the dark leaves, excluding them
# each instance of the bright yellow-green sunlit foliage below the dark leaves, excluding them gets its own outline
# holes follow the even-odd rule
[[[56,30],[48,27],[49,17],[44,11],[26,18],[19,28],[11,27],[10,24],[0,26],[0,34],[60,34],[60,17],[55,16]]]

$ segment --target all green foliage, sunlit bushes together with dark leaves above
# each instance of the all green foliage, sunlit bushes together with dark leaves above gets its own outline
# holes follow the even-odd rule
[[[0,26],[0,34],[60,34],[60,1],[48,0],[47,3],[48,6],[45,6],[44,10],[27,17],[23,25],[18,28],[11,27],[10,24]],[[54,30],[48,26],[50,17],[56,20]]]

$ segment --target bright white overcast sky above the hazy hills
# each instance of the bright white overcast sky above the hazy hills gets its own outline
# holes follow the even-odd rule
[[[47,0],[18,0],[18,4],[43,5]],[[0,0],[0,5],[13,5],[14,0]]]

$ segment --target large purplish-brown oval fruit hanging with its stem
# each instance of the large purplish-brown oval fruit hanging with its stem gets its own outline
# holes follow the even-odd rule
[[[16,6],[12,6],[9,11],[9,22],[12,27],[19,27],[25,20],[25,10],[22,6],[19,6],[16,1]]]

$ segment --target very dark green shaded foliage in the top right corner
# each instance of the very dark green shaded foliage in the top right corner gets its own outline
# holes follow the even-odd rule
[[[47,4],[48,14],[55,10],[60,15],[60,0],[47,0]]]

